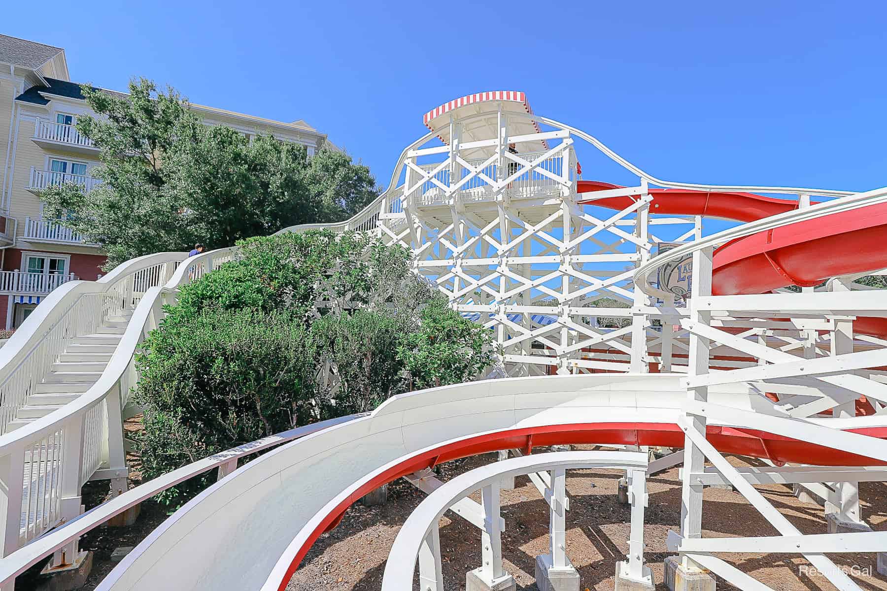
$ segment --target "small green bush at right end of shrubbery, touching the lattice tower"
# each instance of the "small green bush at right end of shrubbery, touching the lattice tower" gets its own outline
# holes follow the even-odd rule
[[[459,384],[492,364],[491,342],[490,330],[468,322],[438,296],[422,309],[419,328],[404,337],[397,356],[412,388]]]

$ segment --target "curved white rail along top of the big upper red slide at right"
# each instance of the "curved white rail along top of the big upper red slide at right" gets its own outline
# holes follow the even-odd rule
[[[757,232],[780,228],[781,226],[786,226],[792,223],[815,220],[825,215],[840,214],[853,209],[859,209],[860,207],[875,206],[882,203],[887,203],[887,187],[861,193],[851,193],[846,197],[825,201],[814,206],[805,207],[804,209],[794,209],[783,214],[761,218],[755,222],[744,223],[735,228],[725,229],[717,234],[712,234],[709,237],[704,237],[695,242],[687,243],[686,245],[680,245],[666,253],[653,257],[634,272],[634,284],[649,296],[658,298],[671,297],[672,294],[670,292],[664,292],[649,283],[649,277],[665,263],[684,259],[687,255],[701,251],[704,248],[722,245],[730,240],[750,236]]]

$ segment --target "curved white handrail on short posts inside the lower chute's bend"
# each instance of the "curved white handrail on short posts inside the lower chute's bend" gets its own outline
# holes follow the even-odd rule
[[[543,470],[583,470],[589,468],[616,468],[646,473],[647,455],[640,452],[572,451],[522,455],[502,462],[483,465],[448,480],[434,493],[428,494],[419,507],[413,509],[397,532],[382,574],[382,591],[403,591],[412,588],[416,558],[422,540],[453,502],[473,493],[478,488],[502,478],[523,476]]]

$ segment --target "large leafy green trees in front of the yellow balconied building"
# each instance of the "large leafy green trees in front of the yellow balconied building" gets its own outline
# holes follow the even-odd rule
[[[174,89],[144,79],[129,96],[84,86],[96,117],[77,129],[99,148],[103,181],[43,191],[45,212],[108,253],[107,268],[163,251],[209,249],[299,223],[337,222],[360,211],[378,189],[367,167],[341,152],[308,156],[272,136],[252,143],[238,131],[205,125]]]

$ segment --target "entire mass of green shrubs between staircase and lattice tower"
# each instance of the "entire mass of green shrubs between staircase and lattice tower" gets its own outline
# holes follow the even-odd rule
[[[493,362],[491,331],[415,276],[404,248],[318,230],[240,246],[182,288],[137,357],[149,477],[396,393],[471,380]],[[205,485],[161,501],[177,506]]]

